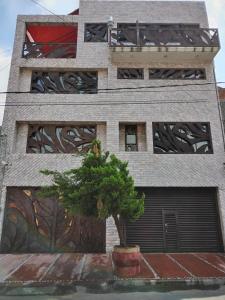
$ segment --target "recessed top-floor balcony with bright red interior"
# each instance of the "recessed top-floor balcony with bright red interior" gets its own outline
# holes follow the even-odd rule
[[[77,25],[27,24],[23,58],[76,58]]]

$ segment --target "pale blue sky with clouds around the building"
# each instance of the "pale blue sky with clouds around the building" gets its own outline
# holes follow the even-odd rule
[[[68,14],[78,8],[79,0],[35,0],[54,14]],[[155,0],[158,1],[158,0]],[[169,1],[169,0],[165,0]],[[182,0],[180,0],[182,1]],[[192,0],[195,1],[195,0]],[[221,42],[221,50],[215,59],[216,79],[225,81],[225,0],[205,0],[209,25],[218,28]],[[0,92],[7,90],[11,53],[16,27],[16,17],[23,15],[48,15],[32,0],[0,0]],[[225,84],[220,84],[225,87]],[[2,123],[5,96],[0,95],[0,125]]]

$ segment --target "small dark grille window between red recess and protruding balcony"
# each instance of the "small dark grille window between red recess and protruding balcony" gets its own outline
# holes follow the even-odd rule
[[[108,27],[106,23],[88,23],[85,24],[84,32],[85,42],[107,42]]]

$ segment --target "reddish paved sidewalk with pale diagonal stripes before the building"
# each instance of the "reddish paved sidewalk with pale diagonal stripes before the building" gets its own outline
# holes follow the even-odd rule
[[[118,278],[110,254],[0,255],[0,285],[110,283],[115,281],[225,281],[225,254],[143,254],[135,278]]]

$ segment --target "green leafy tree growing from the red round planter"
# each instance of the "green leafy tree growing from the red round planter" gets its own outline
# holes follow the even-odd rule
[[[144,212],[144,195],[138,196],[127,162],[103,152],[101,143],[95,140],[81,167],[65,172],[42,170],[41,173],[53,179],[52,186],[42,188],[42,197],[57,197],[71,215],[102,220],[112,216],[120,246],[127,246],[125,222],[137,220]]]

